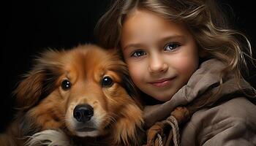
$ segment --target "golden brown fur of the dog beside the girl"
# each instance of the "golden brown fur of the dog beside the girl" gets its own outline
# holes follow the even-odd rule
[[[67,80],[71,87],[65,88]],[[48,129],[61,131],[70,143],[139,145],[143,119],[135,94],[127,67],[116,53],[95,45],[48,50],[15,90],[20,110],[0,135],[1,145],[24,145],[26,136],[33,140]],[[78,105],[93,108],[89,120],[80,115],[88,116],[87,109],[77,112]]]

